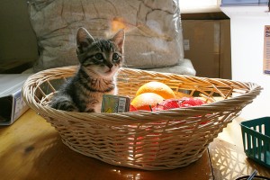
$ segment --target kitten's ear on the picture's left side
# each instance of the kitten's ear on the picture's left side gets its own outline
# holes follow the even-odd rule
[[[93,42],[94,38],[85,28],[79,28],[76,31],[76,47],[78,53],[84,52]]]

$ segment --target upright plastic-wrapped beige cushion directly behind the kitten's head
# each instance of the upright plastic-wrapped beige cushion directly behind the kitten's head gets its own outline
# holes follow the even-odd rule
[[[111,37],[125,27],[127,67],[177,65],[184,54],[176,2],[31,0],[30,19],[40,50],[35,71],[76,65],[75,34],[81,26],[97,38]]]

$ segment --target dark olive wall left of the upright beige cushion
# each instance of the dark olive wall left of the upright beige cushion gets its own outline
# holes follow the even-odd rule
[[[0,67],[13,67],[18,65],[14,61],[32,62],[38,57],[26,0],[1,0],[0,24]]]

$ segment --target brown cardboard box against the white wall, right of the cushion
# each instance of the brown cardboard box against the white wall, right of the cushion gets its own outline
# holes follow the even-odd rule
[[[231,78],[229,20],[183,20],[184,58],[196,76]]]

